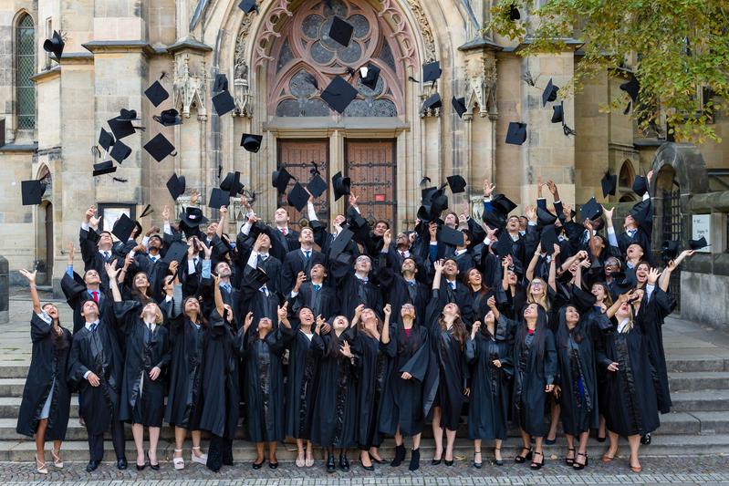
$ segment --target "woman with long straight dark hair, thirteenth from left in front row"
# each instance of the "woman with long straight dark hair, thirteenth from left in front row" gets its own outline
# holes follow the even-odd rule
[[[547,326],[547,313],[538,304],[528,304],[516,326],[513,352],[514,419],[521,429],[524,443],[515,461],[531,459],[530,467],[538,470],[544,465],[542,442],[547,435],[545,410],[547,394],[554,391],[557,375],[555,338]],[[531,450],[531,438],[535,448]],[[526,454],[523,454],[526,451]],[[539,457],[539,460],[537,460]]]

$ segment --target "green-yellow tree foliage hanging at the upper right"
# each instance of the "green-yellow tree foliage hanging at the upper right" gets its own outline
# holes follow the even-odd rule
[[[727,0],[501,0],[485,28],[518,40],[522,56],[578,40],[583,56],[565,91],[606,70],[632,71],[640,96],[631,115],[641,129],[660,126],[662,113],[676,140],[720,141],[713,117],[729,101]],[[629,99],[621,92],[602,108],[623,109]]]

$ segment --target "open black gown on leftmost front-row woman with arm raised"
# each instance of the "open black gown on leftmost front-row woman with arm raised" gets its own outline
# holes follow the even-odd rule
[[[16,432],[33,437],[38,421],[53,387],[45,440],[66,439],[71,394],[68,390],[68,352],[71,349],[71,333],[61,327],[62,336],[54,336],[52,322],[33,313],[30,317],[30,339],[33,352],[23,388],[23,400],[17,416]],[[55,385],[54,385],[55,380]]]

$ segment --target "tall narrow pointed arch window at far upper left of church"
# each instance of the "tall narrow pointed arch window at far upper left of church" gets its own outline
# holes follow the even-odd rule
[[[16,101],[17,128],[36,128],[36,86],[31,79],[36,71],[36,26],[29,15],[16,27]]]

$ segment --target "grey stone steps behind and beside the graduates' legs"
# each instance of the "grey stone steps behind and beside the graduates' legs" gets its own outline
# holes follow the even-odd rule
[[[642,455],[699,455],[722,454],[729,450],[729,338],[724,335],[702,336],[701,329],[691,325],[691,333],[685,333],[684,327],[690,323],[670,319],[664,327],[664,343],[668,355],[668,368],[672,390],[672,413],[661,416],[661,428],[653,434],[650,446],[642,447]],[[5,353],[3,343],[0,345],[0,461],[32,461],[34,460],[35,444],[33,440],[16,434],[16,419],[20,408],[23,386],[27,374],[29,361],[29,339],[27,338],[26,323],[18,323],[10,335],[16,341],[13,353]],[[5,329],[4,329],[5,332]],[[716,343],[716,337],[720,341]],[[17,346],[21,340],[26,340],[26,353],[17,354]],[[4,339],[5,341],[5,339]],[[726,343],[724,344],[722,343]],[[465,424],[458,431],[456,440],[456,456],[465,460],[473,457],[473,443],[466,438]],[[234,441],[235,460],[253,460],[255,448],[253,444],[243,440],[243,430],[239,429],[237,440]],[[511,436],[504,444],[505,458],[513,457],[521,446],[517,439],[518,431],[511,428]],[[135,457],[134,446],[131,440],[131,431],[127,427],[127,454],[130,460]],[[430,428],[422,440],[422,458],[429,459],[432,455],[433,442]],[[86,429],[78,423],[78,400],[74,396],[71,402],[71,419],[68,424],[67,441],[63,445],[66,460],[86,461],[89,457]],[[107,460],[113,459],[110,441],[106,443]],[[203,450],[206,442],[203,440]],[[607,444],[599,444],[591,440],[589,454],[598,456],[606,449]],[[48,445],[49,449],[50,446]],[[384,457],[393,455],[394,442],[385,441],[382,447]],[[171,458],[172,429],[163,427],[160,442],[160,458]],[[546,447],[547,459],[561,458],[565,453],[565,441],[557,436],[557,444]],[[622,448],[622,450],[627,450]],[[185,455],[189,455],[189,446]],[[354,452],[350,454],[354,456]],[[484,460],[491,457],[491,448],[484,444]],[[279,460],[294,460],[296,446],[286,443],[279,447]]]

